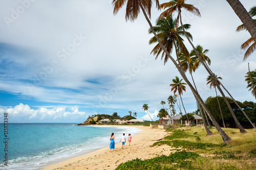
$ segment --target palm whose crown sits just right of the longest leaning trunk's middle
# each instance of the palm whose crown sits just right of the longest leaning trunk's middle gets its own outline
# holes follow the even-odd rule
[[[194,81],[194,78],[192,76],[192,73],[196,71],[196,69],[199,67],[199,64],[195,64],[196,61],[197,61],[197,57],[194,57],[193,55],[193,52],[191,52],[189,55],[185,56],[184,54],[180,54],[179,55],[179,58],[180,58],[180,63],[181,63],[181,66],[183,68],[183,70],[186,72],[187,70],[189,71],[189,74],[191,75],[191,78],[192,78],[192,81],[194,83],[194,86],[197,90],[197,86],[196,86],[196,83]],[[194,95],[195,96],[195,95]],[[212,132],[209,130],[209,128],[207,127],[206,125],[206,121],[204,119],[204,115],[203,115],[203,111],[202,111],[202,108],[200,106],[200,102],[198,101],[197,97],[195,96],[195,99],[197,101],[197,106],[200,110],[200,114],[201,114],[201,117],[202,117],[202,120],[203,120],[203,125],[204,125],[204,128],[207,132],[206,136],[208,135],[212,135]],[[205,112],[204,112],[205,114]],[[205,117],[206,117],[206,120],[207,120],[207,123],[209,125],[209,121],[208,121],[208,118],[205,114]]]

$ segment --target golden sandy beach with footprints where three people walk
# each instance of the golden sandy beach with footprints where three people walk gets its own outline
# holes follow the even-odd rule
[[[115,136],[115,151],[110,153],[109,147],[97,151],[71,158],[56,164],[44,167],[44,170],[50,169],[115,169],[120,163],[128,160],[140,158],[148,159],[157,155],[168,155],[170,147],[162,145],[161,147],[149,147],[151,144],[163,138],[167,133],[163,129],[151,129],[150,127],[134,126],[141,129],[136,135],[132,135],[132,142],[126,139],[125,148],[122,149],[120,143],[121,136]],[[128,134],[125,134],[125,136]]]

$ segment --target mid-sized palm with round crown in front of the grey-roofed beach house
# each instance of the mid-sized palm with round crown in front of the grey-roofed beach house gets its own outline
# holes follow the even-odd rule
[[[181,98],[181,94],[183,94],[183,91],[186,91],[186,87],[185,85],[187,85],[186,83],[183,83],[182,82],[183,79],[179,79],[178,76],[175,77],[175,79],[173,79],[173,83],[170,84],[170,86],[172,87],[172,90],[171,91],[174,91],[174,94],[178,91],[179,95],[180,95],[180,100],[181,100],[181,103],[182,103],[182,106],[183,106],[183,109],[185,111],[185,114],[187,116],[187,113],[186,113],[186,110],[185,110],[185,107],[183,105],[183,101],[182,101],[182,98]],[[192,127],[190,125],[190,121],[187,117],[187,122],[189,124],[190,127]]]

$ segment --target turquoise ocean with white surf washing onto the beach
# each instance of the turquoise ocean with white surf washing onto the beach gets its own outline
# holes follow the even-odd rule
[[[111,133],[116,143],[125,133],[135,135],[129,126],[75,126],[71,123],[8,124],[8,143],[3,133],[0,144],[0,169],[42,169],[42,167],[109,146]],[[7,144],[7,145],[6,145]],[[8,148],[6,151],[6,147]],[[4,156],[8,154],[8,166]]]

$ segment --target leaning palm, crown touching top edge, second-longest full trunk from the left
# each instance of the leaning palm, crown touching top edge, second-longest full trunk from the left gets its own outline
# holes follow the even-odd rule
[[[196,50],[196,47],[194,46],[194,44],[191,42],[191,40],[189,39],[188,35],[186,34],[186,31],[185,31],[185,28],[183,27],[183,23],[182,23],[182,19],[181,19],[181,9],[185,9],[187,10],[188,12],[191,12],[193,14],[196,14],[198,16],[201,16],[200,15],[200,12],[197,8],[195,8],[193,5],[190,5],[190,4],[185,4],[185,1],[186,0],[172,0],[168,3],[163,3],[160,5],[160,8],[168,8],[167,10],[165,10],[161,15],[164,15],[164,13],[166,14],[166,11],[168,13],[170,12],[174,12],[174,11],[177,11],[178,12],[178,17],[180,19],[180,23],[181,23],[181,27],[183,29],[183,32],[187,38],[187,40],[189,41],[189,43],[191,44],[191,46],[193,47],[196,55],[198,56],[198,58],[200,59],[201,63],[203,64],[203,66],[205,67],[205,69],[207,70],[208,74],[210,75],[210,77],[212,78],[212,80],[215,81],[215,84],[217,85],[219,91],[221,92],[222,96],[223,96],[223,99],[224,101],[226,102],[227,106],[228,106],[228,109],[234,119],[234,122],[236,123],[236,125],[238,126],[239,130],[241,133],[246,133],[246,130],[241,126],[241,124],[239,123],[236,115],[234,114],[230,104],[228,103],[228,100],[224,94],[224,92],[222,91],[222,89],[220,88],[220,86],[218,85],[218,83],[216,82],[214,76],[212,75],[212,71],[206,66],[206,64],[204,63],[202,57],[198,54],[197,50]],[[198,96],[197,96],[198,97]],[[208,113],[207,113],[208,114]]]

